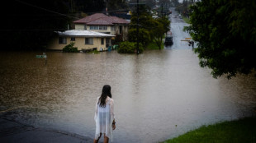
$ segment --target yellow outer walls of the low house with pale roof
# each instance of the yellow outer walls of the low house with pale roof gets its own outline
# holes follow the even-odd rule
[[[72,37],[64,37],[61,36],[62,38],[66,39],[66,42],[64,44],[59,44],[59,37],[56,37],[52,43],[47,47],[47,49],[52,49],[52,50],[62,50],[66,45],[70,44],[71,42],[74,42],[74,47],[78,47],[78,50],[84,49],[92,49],[92,48],[97,48],[99,51],[101,48],[102,50],[107,50],[106,48],[106,38],[101,38],[101,37],[92,37],[93,39],[93,44],[85,44],[85,37],[74,37],[75,40],[72,41]],[[88,37],[89,38],[89,37]],[[72,38],[73,39],[73,38]],[[102,44],[102,39],[104,39],[104,44]],[[111,38],[108,38],[111,39]]]

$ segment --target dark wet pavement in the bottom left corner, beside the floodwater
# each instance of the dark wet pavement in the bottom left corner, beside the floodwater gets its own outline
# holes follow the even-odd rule
[[[2,143],[85,143],[91,138],[79,136],[67,131],[57,131],[32,127],[20,122],[0,118],[0,142]]]

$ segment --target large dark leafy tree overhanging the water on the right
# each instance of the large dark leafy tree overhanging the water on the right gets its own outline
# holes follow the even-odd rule
[[[201,0],[187,31],[198,42],[201,67],[212,76],[249,74],[256,67],[256,1]]]

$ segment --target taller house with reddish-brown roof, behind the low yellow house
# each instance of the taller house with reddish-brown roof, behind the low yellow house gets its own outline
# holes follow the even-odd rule
[[[116,35],[116,39],[124,41],[128,35],[128,25],[126,21],[116,16],[107,16],[103,13],[96,13],[86,16],[78,21],[73,21],[75,30],[90,30],[105,34]]]

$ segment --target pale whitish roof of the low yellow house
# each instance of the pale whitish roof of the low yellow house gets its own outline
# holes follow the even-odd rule
[[[57,32],[62,36],[75,36],[75,37],[115,37],[115,35],[107,35],[100,32],[91,30],[65,30],[64,32]]]

